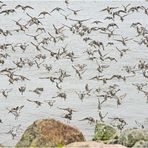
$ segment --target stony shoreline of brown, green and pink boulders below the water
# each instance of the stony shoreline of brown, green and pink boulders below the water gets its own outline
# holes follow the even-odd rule
[[[16,147],[145,148],[148,130],[130,128],[120,133],[109,124],[96,122],[93,139],[86,141],[76,127],[54,119],[40,119],[25,130]]]

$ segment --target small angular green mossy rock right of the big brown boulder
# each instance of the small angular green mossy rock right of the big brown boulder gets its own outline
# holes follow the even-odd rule
[[[116,129],[105,123],[96,123],[94,141],[109,141],[118,137]]]

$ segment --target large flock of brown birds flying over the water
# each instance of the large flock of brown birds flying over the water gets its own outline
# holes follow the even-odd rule
[[[112,74],[110,69],[131,54],[133,49],[130,45],[148,48],[148,30],[141,22],[134,20],[135,22],[128,24],[129,29],[134,32],[131,37],[120,32],[120,24],[129,16],[140,13],[148,17],[148,8],[143,5],[132,6],[130,3],[107,6],[97,12],[104,16],[104,20],[94,19],[93,16],[87,18],[87,15],[79,19],[84,10],[73,9],[72,3],[65,0],[64,8],[57,6],[49,11],[37,12],[30,5],[18,4],[10,8],[9,2],[0,1],[0,18],[9,18],[14,27],[6,29],[7,27],[0,26],[0,38],[4,41],[0,43],[0,80],[5,84],[0,87],[0,99],[9,102],[9,99],[13,99],[11,94],[18,92],[17,99],[20,100],[22,97],[26,102],[16,106],[9,104],[5,106],[5,112],[7,116],[14,116],[17,123],[21,112],[28,106],[26,104],[35,105],[36,110],[47,104],[49,112],[56,108],[60,113],[64,112],[59,115],[60,118],[70,122],[75,120],[73,114],[78,112],[78,109],[72,106],[65,107],[71,93],[74,102],[77,101],[75,98],[79,98],[82,104],[87,99],[96,100],[97,105],[94,106],[96,105],[98,118],[88,115],[80,118],[79,122],[86,120],[93,124],[96,120],[103,122],[109,119],[113,126],[122,130],[128,123],[121,117],[109,117],[108,112],[103,113],[104,105],[113,100],[117,107],[120,107],[128,98],[128,93],[122,91],[119,82],[126,83],[129,79],[136,80],[139,76],[143,77],[143,81],[132,83],[130,87],[145,96],[146,99],[143,100],[148,103],[148,62],[138,59],[134,65],[124,65],[120,69],[122,73],[117,69]],[[34,16],[33,12],[38,14]],[[52,17],[57,17],[59,23],[50,22],[51,25],[47,27],[45,22],[50,21]],[[64,21],[60,22],[60,19]],[[9,40],[13,39],[14,35],[19,36],[18,42]],[[76,48],[80,48],[74,49],[71,44],[77,44]],[[110,73],[106,74],[107,71]],[[42,84],[37,86],[37,81]],[[83,88],[80,89],[79,84],[83,85]],[[29,85],[33,87],[30,89]],[[48,90],[42,87],[43,85],[49,85],[50,91],[54,94],[50,98],[44,96],[47,97],[45,100],[41,98]],[[36,99],[28,98],[26,94],[33,94]],[[60,101],[64,101],[65,105],[57,106],[57,102]],[[5,124],[5,119],[0,117],[0,126],[2,124]],[[138,121],[136,124],[142,125]],[[15,126],[0,134],[10,134],[14,139],[20,127],[21,125]],[[143,125],[141,127],[144,128]]]

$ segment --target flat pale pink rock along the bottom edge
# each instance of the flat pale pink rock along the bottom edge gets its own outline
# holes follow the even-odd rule
[[[63,148],[126,148],[119,144],[103,144],[95,141],[74,142],[64,146]]]

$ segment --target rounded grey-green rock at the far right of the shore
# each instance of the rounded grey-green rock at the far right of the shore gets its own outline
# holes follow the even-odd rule
[[[118,143],[127,147],[132,147],[137,141],[148,141],[148,133],[142,129],[126,129],[119,136]]]

